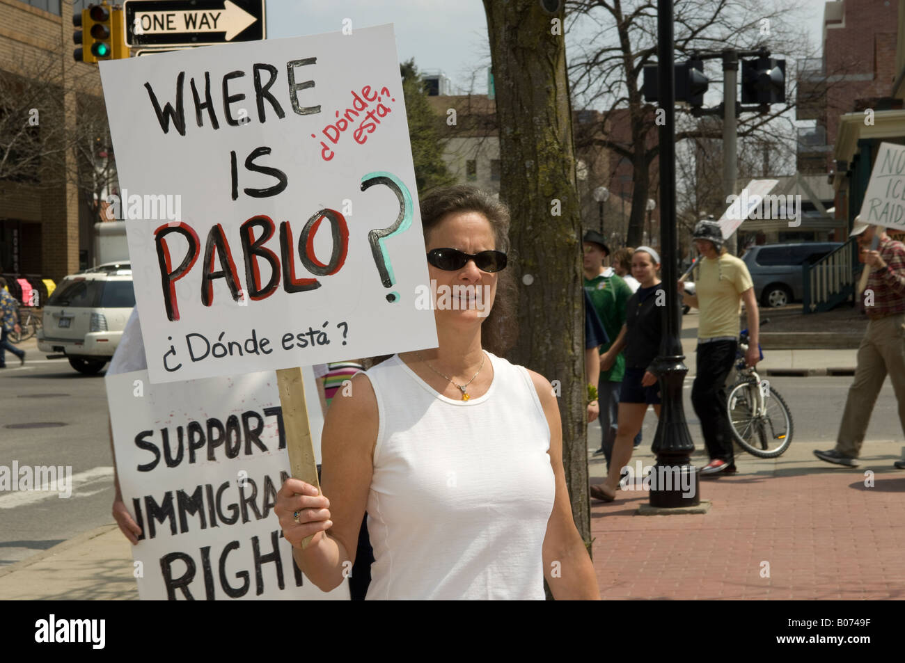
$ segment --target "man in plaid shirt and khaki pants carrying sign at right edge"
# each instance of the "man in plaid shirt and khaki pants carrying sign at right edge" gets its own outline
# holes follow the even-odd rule
[[[868,251],[876,232],[880,232],[877,251]],[[857,236],[864,252],[864,269],[871,270],[864,289],[864,310],[870,322],[858,347],[858,367],[845,401],[836,447],[814,450],[814,455],[829,463],[856,468],[873,404],[887,374],[905,431],[905,244],[892,241],[881,228],[861,223],[860,217],[855,217],[852,235]],[[895,467],[905,469],[905,459],[896,460]]]

